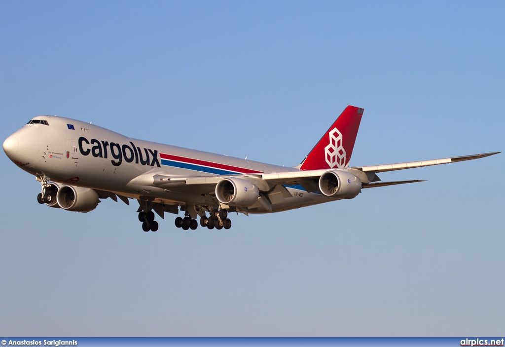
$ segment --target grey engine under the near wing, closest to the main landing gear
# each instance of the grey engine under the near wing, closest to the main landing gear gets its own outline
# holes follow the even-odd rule
[[[258,201],[260,189],[243,178],[223,178],[216,184],[216,197],[221,204],[249,207]]]

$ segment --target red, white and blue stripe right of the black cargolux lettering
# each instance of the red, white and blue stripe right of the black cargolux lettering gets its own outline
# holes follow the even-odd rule
[[[236,174],[255,174],[263,173],[238,166],[226,165],[221,163],[209,162],[206,160],[193,159],[187,157],[174,156],[171,154],[160,153],[161,164],[180,169],[201,171],[215,175],[236,175]]]

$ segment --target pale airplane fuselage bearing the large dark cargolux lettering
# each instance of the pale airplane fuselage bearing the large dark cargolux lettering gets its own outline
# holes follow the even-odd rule
[[[184,188],[157,188],[132,184],[142,174],[170,176],[240,175],[265,172],[299,171],[295,168],[264,164],[208,152],[130,138],[81,121],[37,116],[45,121],[26,124],[11,135],[18,150],[11,158],[32,175],[46,175],[61,184],[71,184],[114,192],[132,199],[180,205],[216,205],[210,194]],[[286,186],[292,197],[273,203],[272,210],[254,206],[249,213],[268,213],[320,204],[329,200],[299,186]]]

